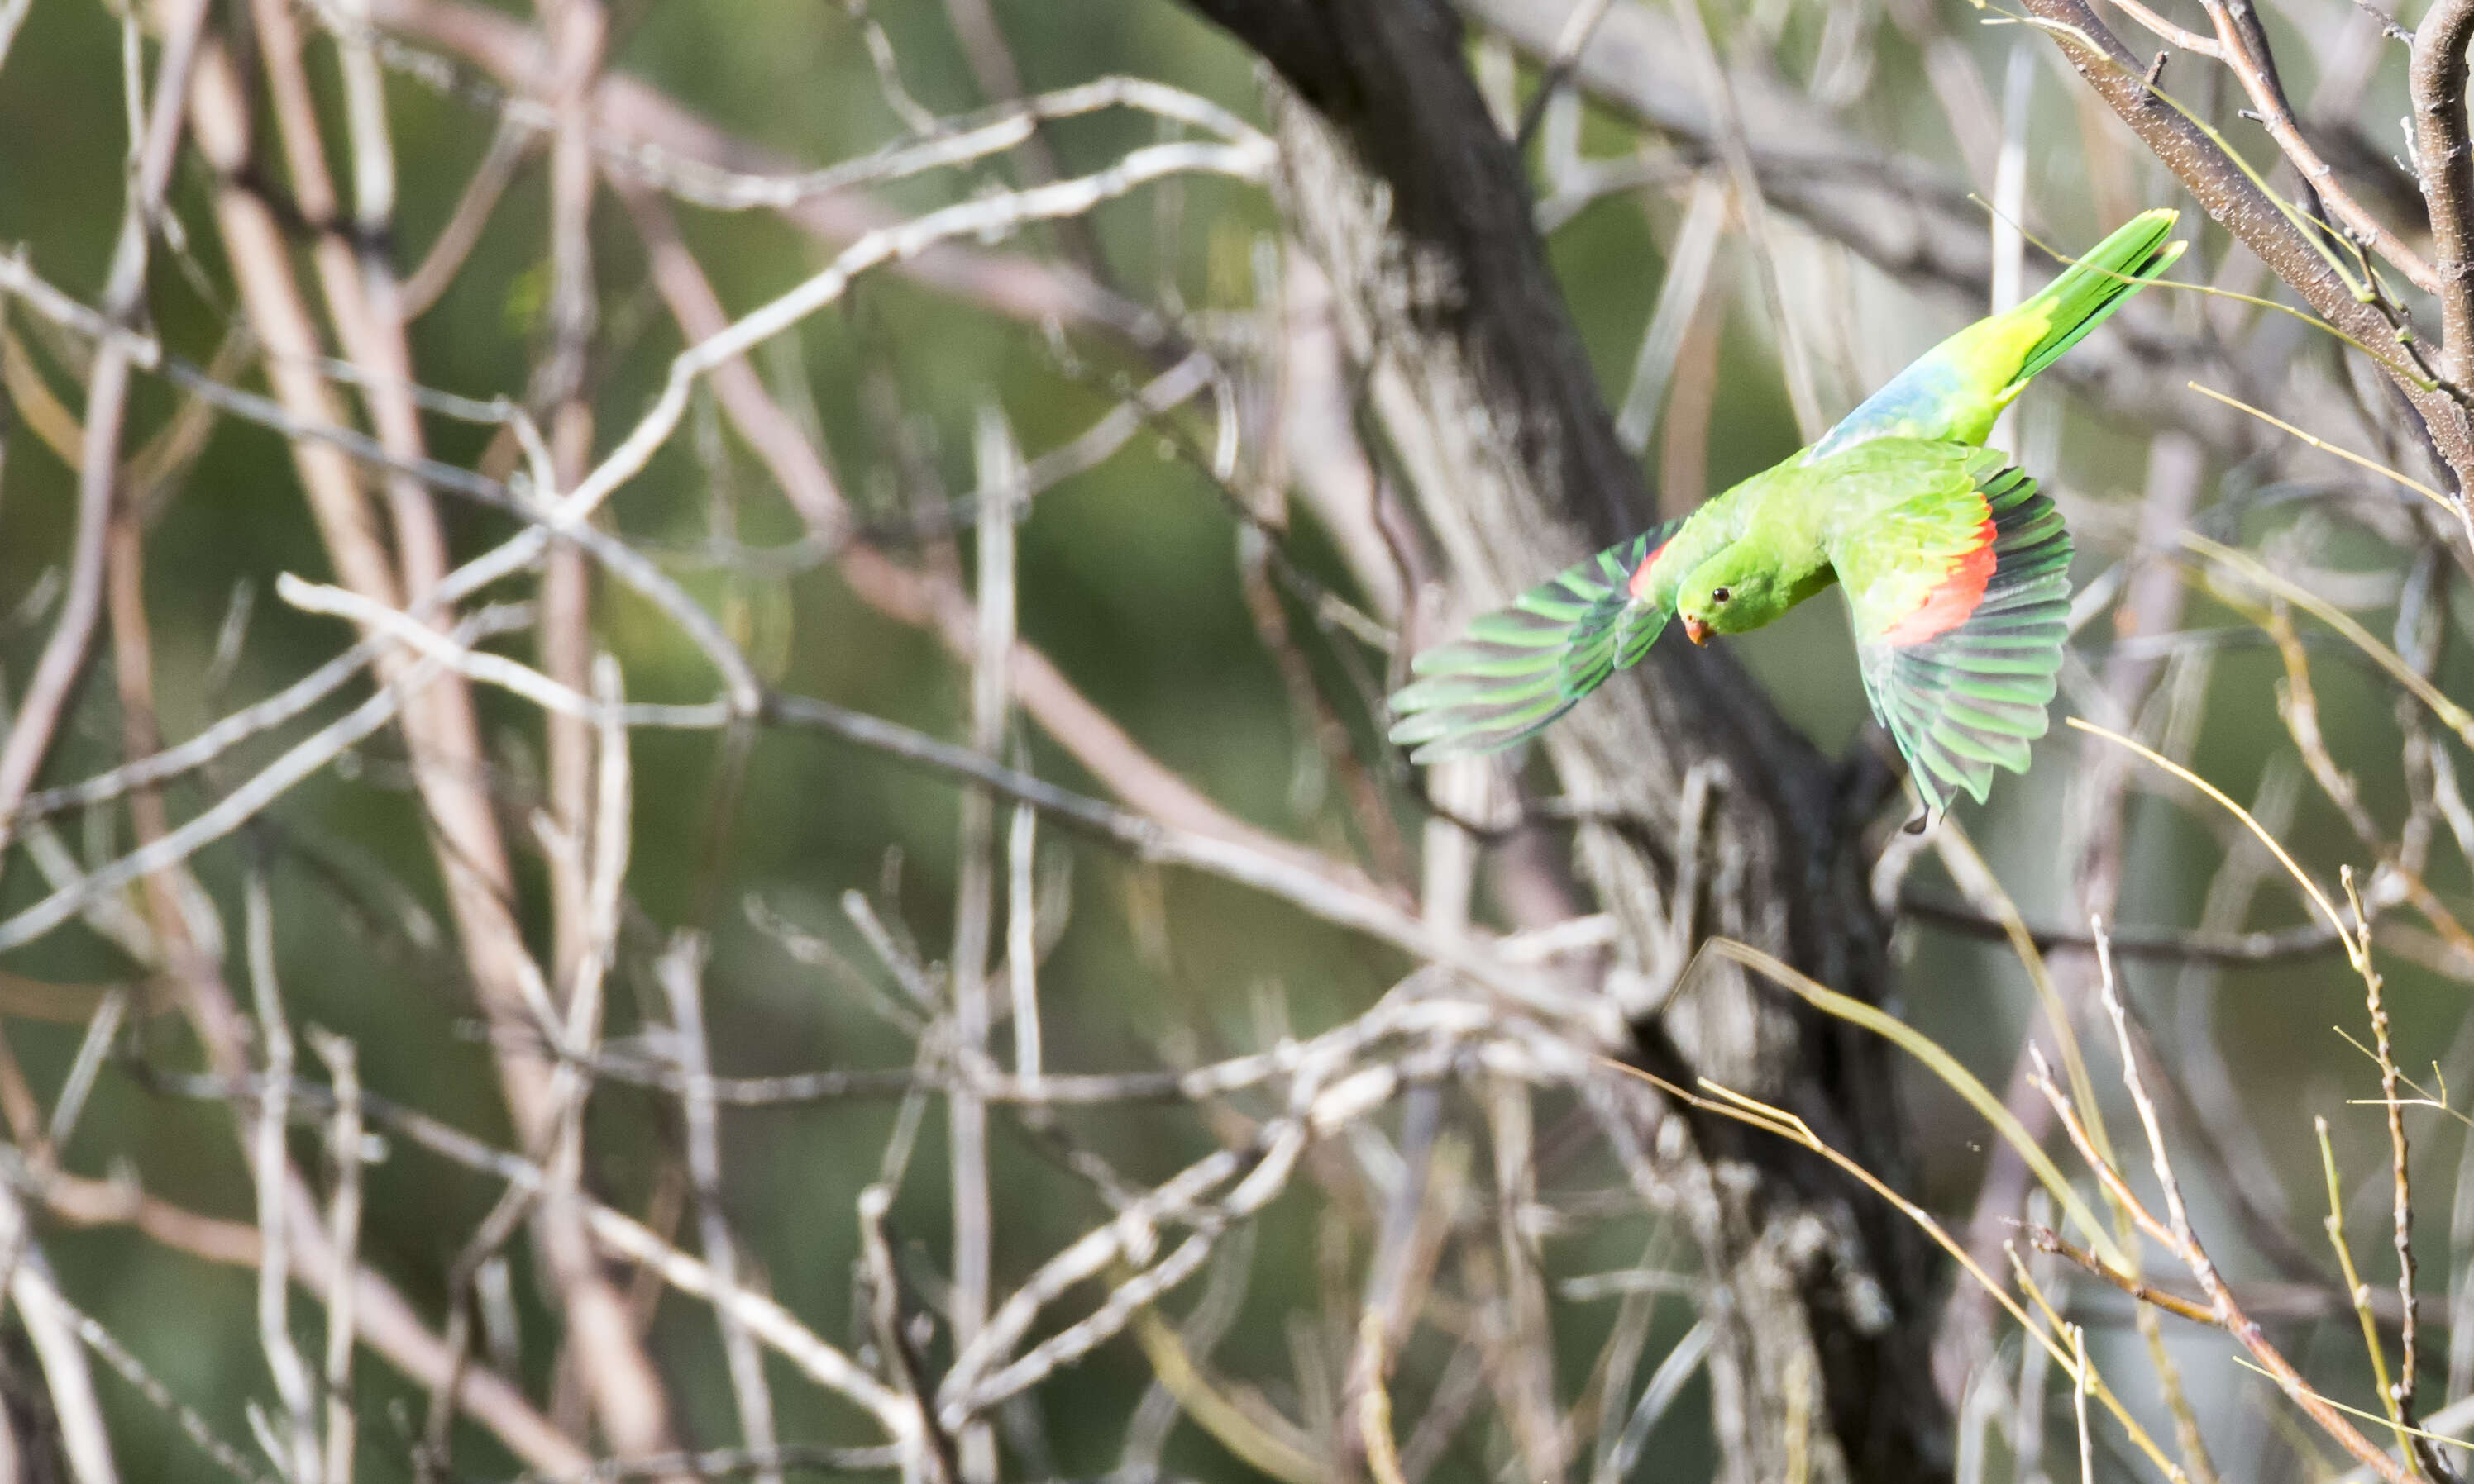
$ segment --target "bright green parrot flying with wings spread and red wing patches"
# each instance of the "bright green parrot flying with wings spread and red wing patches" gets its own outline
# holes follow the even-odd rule
[[[2026,772],[2046,730],[2071,611],[2061,512],[1984,438],[2039,371],[2182,255],[2172,225],[2172,210],[2140,213],[1811,448],[1420,653],[1390,697],[1390,740],[1415,747],[1413,762],[1512,747],[1640,663],[1667,618],[1707,643],[1838,584],[1865,697],[1925,799],[1915,826],[1962,789],[1982,804],[1994,769]]]

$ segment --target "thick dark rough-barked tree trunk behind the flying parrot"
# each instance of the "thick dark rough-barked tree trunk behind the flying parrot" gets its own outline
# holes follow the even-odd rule
[[[1289,218],[1338,292],[1380,425],[1477,603],[1645,524],[1571,314],[1531,228],[1522,163],[1462,62],[1442,0],[1192,0],[1277,72]],[[1883,923],[1858,831],[1885,774],[1838,769],[1724,655],[1660,646],[1549,735],[1564,787],[1625,816],[1578,856],[1650,987],[1638,1056],[1799,1113],[1898,1180],[1883,1044],[1690,945],[1729,935],[1878,997]],[[1707,799],[1695,809],[1692,799]],[[1665,1002],[1665,1004],[1658,1004]],[[1823,1160],[1707,1118],[1660,1130],[1700,1237],[1724,1477],[1945,1477],[1927,1343],[1940,1266],[1922,1234]],[[1799,1427],[1799,1420],[1806,1427]]]

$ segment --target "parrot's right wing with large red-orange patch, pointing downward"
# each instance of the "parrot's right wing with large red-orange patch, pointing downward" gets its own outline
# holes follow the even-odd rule
[[[2044,737],[2071,613],[2071,532],[1992,450],[1952,448],[1947,477],[1838,534],[1831,566],[1856,616],[1873,715],[1940,819],[1979,804],[1997,767]]]

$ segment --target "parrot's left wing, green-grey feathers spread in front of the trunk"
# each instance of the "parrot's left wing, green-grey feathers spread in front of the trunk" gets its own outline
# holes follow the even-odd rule
[[[1635,576],[1682,524],[1608,547],[1472,621],[1465,638],[1423,650],[1410,660],[1418,680],[1390,697],[1390,740],[1418,747],[1410,762],[1497,752],[1640,663],[1667,608],[1635,599]]]

